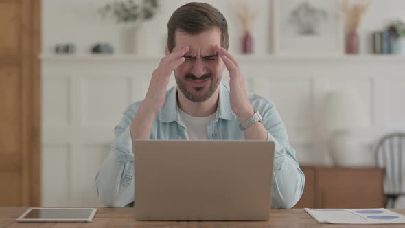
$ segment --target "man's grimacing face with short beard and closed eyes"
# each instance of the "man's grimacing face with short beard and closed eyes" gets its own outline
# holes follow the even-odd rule
[[[218,27],[191,35],[176,31],[174,51],[185,45],[190,47],[183,65],[174,70],[178,89],[192,102],[204,102],[211,98],[222,78],[224,62],[214,47],[221,47]]]

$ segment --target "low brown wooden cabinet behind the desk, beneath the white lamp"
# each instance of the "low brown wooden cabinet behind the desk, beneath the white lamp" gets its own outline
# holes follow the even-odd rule
[[[295,208],[384,207],[380,168],[303,167],[305,189]]]

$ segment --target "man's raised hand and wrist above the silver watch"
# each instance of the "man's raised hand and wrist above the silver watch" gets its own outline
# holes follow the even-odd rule
[[[233,113],[238,116],[240,122],[244,122],[254,114],[254,111],[246,93],[244,79],[240,73],[238,62],[236,62],[235,58],[223,47],[216,45],[215,49],[229,71],[231,109]]]

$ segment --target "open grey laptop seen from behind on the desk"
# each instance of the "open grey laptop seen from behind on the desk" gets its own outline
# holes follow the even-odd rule
[[[268,220],[273,142],[134,145],[135,220]]]

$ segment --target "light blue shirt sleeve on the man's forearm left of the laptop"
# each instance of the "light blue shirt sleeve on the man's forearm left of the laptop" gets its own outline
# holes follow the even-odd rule
[[[134,201],[134,157],[130,124],[135,113],[125,111],[121,122],[115,127],[115,139],[102,163],[95,186],[100,201],[107,207],[124,207]]]

